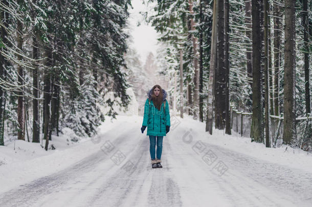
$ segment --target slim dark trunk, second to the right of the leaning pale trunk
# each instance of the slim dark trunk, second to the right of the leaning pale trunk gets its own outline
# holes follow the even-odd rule
[[[229,62],[229,0],[225,0],[225,69],[226,69],[226,134],[231,134],[230,62]]]

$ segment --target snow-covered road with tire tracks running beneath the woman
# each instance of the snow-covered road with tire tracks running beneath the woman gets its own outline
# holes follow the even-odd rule
[[[93,153],[0,194],[0,206],[312,205],[311,171],[213,144],[192,120],[172,127],[163,168],[152,169],[141,119],[120,116],[92,145],[80,144]]]

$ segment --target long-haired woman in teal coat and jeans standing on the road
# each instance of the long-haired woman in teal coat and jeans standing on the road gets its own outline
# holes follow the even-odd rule
[[[149,152],[152,168],[162,168],[163,137],[166,136],[170,129],[169,104],[166,100],[167,92],[160,85],[154,85],[149,90],[147,96],[141,131],[143,133],[147,127],[146,135],[149,135]],[[155,158],[156,137],[157,151]]]

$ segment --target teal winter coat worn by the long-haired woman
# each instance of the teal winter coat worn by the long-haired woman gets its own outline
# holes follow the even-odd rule
[[[151,95],[149,92],[148,95]],[[165,96],[164,96],[165,95]],[[147,134],[153,136],[166,136],[166,126],[170,126],[170,114],[169,104],[166,100],[167,93],[163,89],[163,103],[160,110],[158,110],[153,101],[149,98],[146,99],[144,105],[144,117],[142,126],[147,126]],[[149,102],[150,100],[150,102]],[[166,101],[166,107],[164,108],[164,101]]]

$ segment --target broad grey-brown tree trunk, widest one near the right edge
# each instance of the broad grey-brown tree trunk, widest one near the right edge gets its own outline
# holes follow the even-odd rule
[[[285,0],[285,75],[284,75],[284,132],[283,143],[293,144],[296,138],[296,35],[295,3]]]

